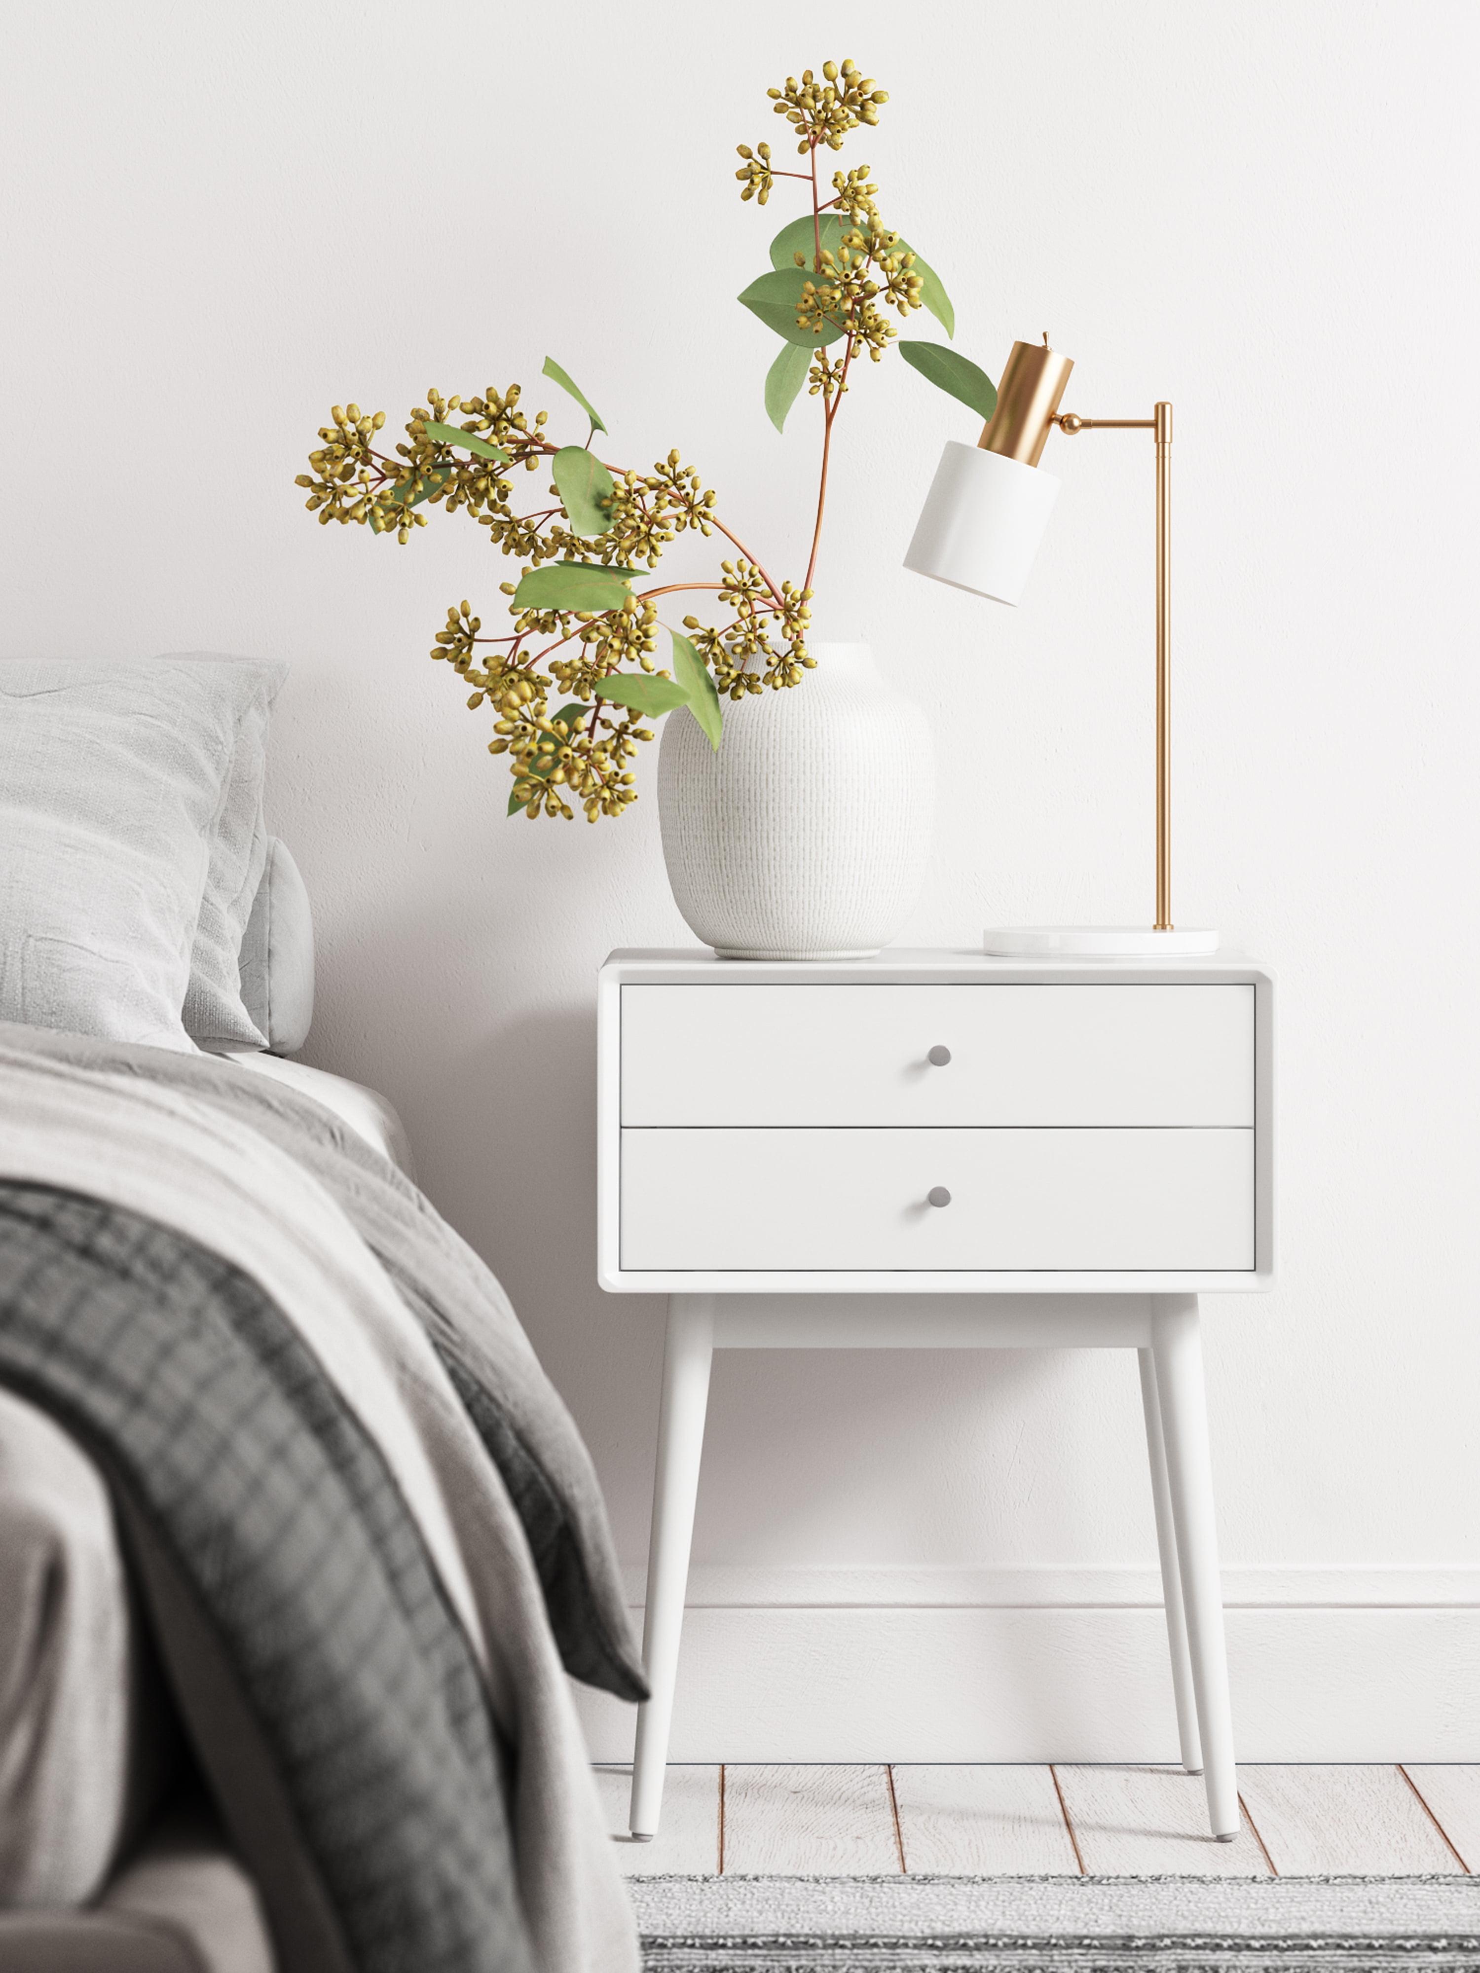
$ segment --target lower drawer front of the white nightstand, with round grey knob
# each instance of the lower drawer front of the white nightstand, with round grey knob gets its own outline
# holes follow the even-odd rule
[[[1253,1131],[622,1133],[631,1273],[1253,1265]]]

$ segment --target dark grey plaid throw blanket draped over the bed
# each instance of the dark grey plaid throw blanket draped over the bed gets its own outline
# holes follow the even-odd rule
[[[523,1973],[507,1754],[478,1665],[385,1462],[292,1326],[168,1227],[14,1184],[0,1306],[0,1375],[97,1456],[215,1630],[349,1963]]]

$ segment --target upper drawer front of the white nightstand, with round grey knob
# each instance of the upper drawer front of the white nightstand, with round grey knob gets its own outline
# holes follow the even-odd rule
[[[1249,1127],[1253,986],[624,986],[622,1123]]]

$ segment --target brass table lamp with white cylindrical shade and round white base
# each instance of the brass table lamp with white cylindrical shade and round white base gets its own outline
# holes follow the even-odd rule
[[[1016,604],[1054,511],[1060,481],[1040,470],[1054,426],[1075,432],[1152,432],[1156,440],[1156,923],[1042,925],[987,931],[1002,955],[1066,953],[1133,959],[1218,951],[1216,931],[1172,925],[1172,406],[1150,418],[1079,418],[1060,412],[1073,361],[1040,343],[1012,343],[997,410],[975,446],[949,440],[935,470],[906,568],[953,588]]]

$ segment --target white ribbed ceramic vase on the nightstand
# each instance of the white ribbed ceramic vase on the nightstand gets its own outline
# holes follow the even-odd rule
[[[888,945],[925,876],[935,754],[866,643],[817,643],[789,691],[724,700],[710,750],[663,722],[663,860],[689,927],[724,959],[860,959]]]

